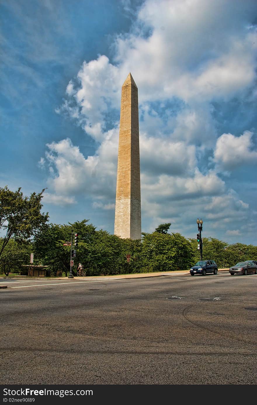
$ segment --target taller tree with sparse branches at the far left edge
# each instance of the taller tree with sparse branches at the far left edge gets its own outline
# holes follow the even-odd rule
[[[11,238],[16,241],[30,239],[36,230],[48,221],[48,213],[41,213],[40,193],[23,196],[21,188],[13,192],[5,186],[0,188],[0,229],[5,233],[0,247],[0,256]]]

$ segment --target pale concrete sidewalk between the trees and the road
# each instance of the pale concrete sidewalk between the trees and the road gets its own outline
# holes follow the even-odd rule
[[[220,271],[228,271],[228,269],[219,269]],[[28,277],[28,276],[4,276],[0,279],[12,279],[12,280],[90,280],[90,281],[104,281],[104,280],[121,280],[121,279],[130,279],[130,278],[148,278],[148,277],[167,277],[175,276],[179,277],[182,275],[190,275],[189,270],[179,270],[179,271],[159,271],[156,273],[132,273],[132,274],[117,274],[117,275],[108,275],[108,276],[86,276],[86,277],[74,277],[69,279],[68,277]]]

